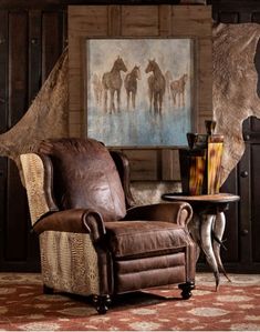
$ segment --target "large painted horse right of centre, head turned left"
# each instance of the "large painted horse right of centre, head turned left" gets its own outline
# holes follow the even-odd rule
[[[155,60],[148,60],[145,72],[153,72],[148,77],[149,110],[152,111],[152,103],[154,102],[154,112],[162,114],[166,87],[165,77]]]

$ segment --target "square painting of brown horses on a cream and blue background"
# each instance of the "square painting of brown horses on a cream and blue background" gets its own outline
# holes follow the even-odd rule
[[[85,40],[85,133],[108,147],[183,147],[194,128],[195,40]]]

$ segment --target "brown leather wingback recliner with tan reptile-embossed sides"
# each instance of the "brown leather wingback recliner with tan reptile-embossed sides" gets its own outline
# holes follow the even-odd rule
[[[93,295],[98,313],[111,296],[195,284],[195,244],[185,202],[134,207],[127,159],[92,139],[48,140],[21,155],[43,290]]]

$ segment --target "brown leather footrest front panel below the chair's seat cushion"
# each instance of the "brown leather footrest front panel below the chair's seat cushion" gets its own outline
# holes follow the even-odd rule
[[[186,282],[185,253],[116,261],[115,293]]]

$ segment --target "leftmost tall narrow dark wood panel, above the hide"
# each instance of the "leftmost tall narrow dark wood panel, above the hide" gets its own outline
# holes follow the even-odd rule
[[[9,127],[14,125],[28,107],[28,14],[9,14]]]

